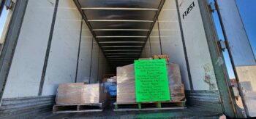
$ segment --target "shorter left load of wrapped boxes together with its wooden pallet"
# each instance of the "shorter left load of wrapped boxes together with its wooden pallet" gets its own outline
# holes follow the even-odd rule
[[[59,84],[56,105],[53,112],[98,112],[102,111],[106,93],[99,83],[63,83]],[[89,110],[97,107],[95,110]]]

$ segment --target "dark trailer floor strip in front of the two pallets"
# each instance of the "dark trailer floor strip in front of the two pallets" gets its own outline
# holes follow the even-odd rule
[[[81,113],[59,113],[46,114],[37,118],[219,118],[222,115],[217,112],[207,111],[198,107],[187,107],[182,110],[151,110],[151,111],[129,111],[129,112],[114,112],[113,109],[108,108],[103,112],[81,112]]]

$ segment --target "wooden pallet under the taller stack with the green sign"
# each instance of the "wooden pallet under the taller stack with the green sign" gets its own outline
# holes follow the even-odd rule
[[[114,111],[174,110],[185,109],[186,100],[181,102],[114,103]]]

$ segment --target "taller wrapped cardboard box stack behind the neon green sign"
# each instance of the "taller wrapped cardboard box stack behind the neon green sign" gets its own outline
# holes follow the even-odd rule
[[[167,55],[154,55],[153,59],[165,59],[167,62],[167,76],[170,89],[170,102],[181,102],[185,99],[184,85],[181,82],[181,73],[178,64],[168,63]],[[151,60],[142,58],[140,60]],[[117,67],[117,103],[135,103],[135,69],[134,65]]]

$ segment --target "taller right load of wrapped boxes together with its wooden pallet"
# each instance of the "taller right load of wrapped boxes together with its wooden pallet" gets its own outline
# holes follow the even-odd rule
[[[184,85],[181,83],[181,73],[179,66],[177,64],[167,64],[167,79],[170,91],[170,102],[160,102],[152,103],[142,103],[138,104],[136,102],[136,91],[135,91],[135,65],[126,65],[123,67],[117,67],[117,96],[115,103],[115,110],[123,110],[126,107],[134,105],[131,110],[141,110],[143,106],[150,107],[156,106],[161,107],[162,105],[178,105],[178,108],[184,108],[186,102]],[[147,105],[148,104],[148,105]],[[159,106],[160,105],[160,106]],[[166,107],[166,106],[165,106]],[[123,109],[122,109],[123,108]],[[163,109],[163,108],[161,108]],[[165,108],[166,109],[166,108]],[[170,108],[169,108],[170,109]],[[176,107],[177,109],[177,107]],[[125,109],[127,110],[127,109]],[[130,110],[130,109],[129,109]]]

